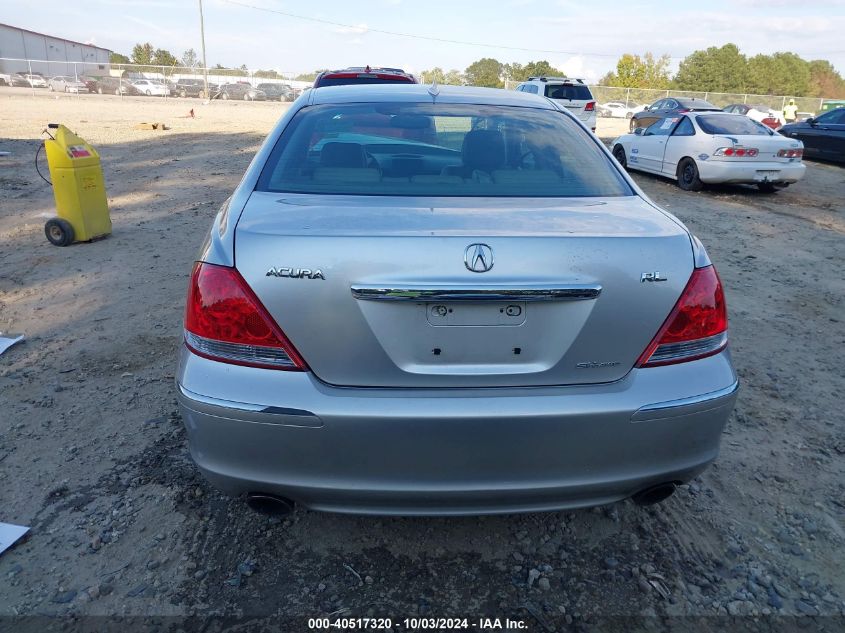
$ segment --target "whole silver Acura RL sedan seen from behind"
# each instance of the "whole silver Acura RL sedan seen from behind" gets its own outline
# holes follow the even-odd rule
[[[178,398],[260,509],[647,504],[718,454],[727,343],[701,243],[552,101],[316,88],[193,267]]]

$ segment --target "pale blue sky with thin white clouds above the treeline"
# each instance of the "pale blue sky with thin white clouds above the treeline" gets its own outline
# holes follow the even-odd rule
[[[845,0],[202,2],[209,65],[300,73],[369,64],[418,73],[463,70],[482,57],[545,59],[594,82],[623,53],[666,53],[674,70],[696,49],[733,42],[748,56],[826,59],[845,75]],[[0,0],[0,22],[126,55],[138,42],[177,58],[200,51],[198,0]]]

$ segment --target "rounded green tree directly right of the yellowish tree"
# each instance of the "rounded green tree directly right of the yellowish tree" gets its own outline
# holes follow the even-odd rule
[[[675,76],[679,90],[745,92],[749,64],[736,44],[711,46],[687,55]]]

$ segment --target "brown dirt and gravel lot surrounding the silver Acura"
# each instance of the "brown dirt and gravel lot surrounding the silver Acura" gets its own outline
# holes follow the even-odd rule
[[[180,118],[190,107],[196,118]],[[839,630],[845,170],[809,163],[774,195],[636,177],[707,245],[742,380],[718,462],[664,504],[279,520],[197,475],[173,372],[193,256],[284,107],[0,93],[12,153],[0,158],[0,330],[27,335],[0,357],[0,521],[32,527],[0,555],[0,614],[232,616],[287,631],[330,613],[498,615],[537,631],[632,630],[629,616],[738,630],[772,615],[758,624]],[[53,198],[33,156],[52,121],[101,151],[106,240],[44,239]],[[172,129],[133,131],[141,121]],[[33,622],[0,618],[0,630]]]

